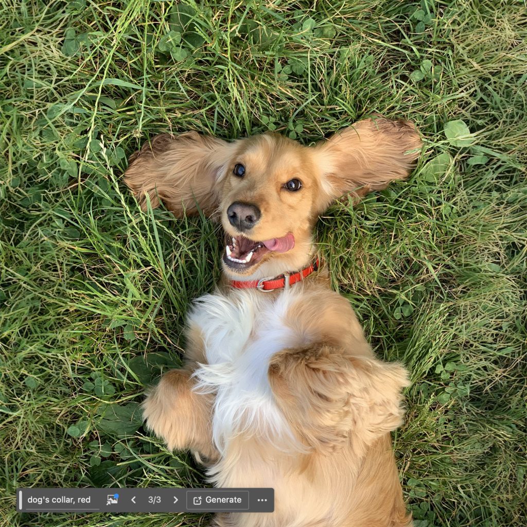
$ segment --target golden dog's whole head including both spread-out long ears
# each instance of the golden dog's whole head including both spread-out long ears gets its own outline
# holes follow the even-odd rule
[[[131,158],[126,184],[145,207],[160,200],[177,216],[198,207],[221,221],[223,268],[274,276],[305,265],[321,212],[345,194],[404,179],[418,156],[414,126],[359,121],[314,147],[279,134],[227,143],[189,132],[159,135]]]

